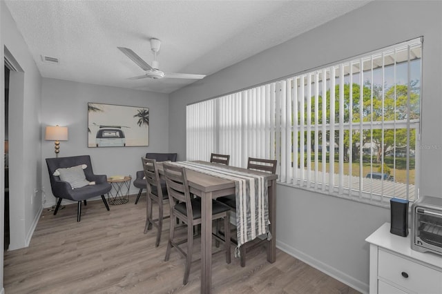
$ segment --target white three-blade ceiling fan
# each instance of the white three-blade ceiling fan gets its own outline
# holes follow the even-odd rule
[[[162,72],[160,68],[160,63],[157,61],[157,54],[160,51],[161,41],[158,39],[151,39],[151,49],[153,52],[153,61],[150,66],[146,61],[144,61],[141,57],[139,57],[133,50],[124,47],[117,47],[121,50],[127,57],[129,57],[133,62],[137,63],[142,70],[146,72],[144,75],[140,75],[138,77],[131,77],[130,79],[162,79],[163,77],[169,77],[174,79],[202,79],[206,77],[206,75],[193,75],[193,74],[184,74],[177,72]]]

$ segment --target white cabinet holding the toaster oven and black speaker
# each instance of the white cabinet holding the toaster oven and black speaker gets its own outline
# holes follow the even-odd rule
[[[442,293],[442,256],[413,251],[410,234],[393,235],[385,223],[365,241],[370,244],[370,293]]]

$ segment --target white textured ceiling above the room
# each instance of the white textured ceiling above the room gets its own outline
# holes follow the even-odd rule
[[[6,1],[41,75],[170,93],[191,79],[139,79],[160,39],[164,72],[211,75],[367,1]],[[41,56],[59,59],[44,63]]]

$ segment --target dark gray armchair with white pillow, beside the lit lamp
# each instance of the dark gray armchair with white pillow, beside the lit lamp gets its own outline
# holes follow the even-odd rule
[[[62,199],[69,199],[77,202],[77,222],[80,221],[81,216],[81,202],[84,202],[86,206],[86,199],[101,195],[106,209],[109,210],[108,203],[104,197],[105,193],[108,193],[112,186],[107,182],[106,175],[94,175],[92,164],[90,163],[89,155],[73,156],[73,157],[58,157],[58,158],[46,158],[46,164],[48,165],[50,186],[52,188],[52,194],[58,197],[57,206],[55,207],[54,215],[57,215],[57,211],[61,204]],[[87,184],[86,182],[77,186],[71,182],[62,181],[60,178],[64,175],[54,175],[55,171],[59,168],[72,168],[75,166],[81,166],[85,164],[86,168],[83,169],[84,176],[87,182],[95,182],[95,184]],[[86,185],[86,186],[82,186]]]

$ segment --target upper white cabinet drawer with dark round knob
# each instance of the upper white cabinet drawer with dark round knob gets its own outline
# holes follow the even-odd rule
[[[442,293],[442,272],[381,249],[378,276],[417,293]]]

